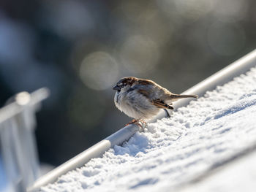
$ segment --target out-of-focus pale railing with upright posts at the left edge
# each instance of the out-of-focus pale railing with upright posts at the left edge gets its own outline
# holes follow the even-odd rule
[[[46,88],[21,92],[0,109],[0,169],[4,172],[0,191],[26,191],[39,177],[35,112],[47,97]]]

